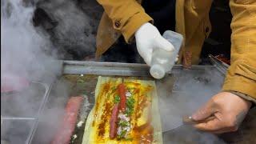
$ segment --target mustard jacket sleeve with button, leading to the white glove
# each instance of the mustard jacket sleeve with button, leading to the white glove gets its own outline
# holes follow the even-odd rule
[[[103,6],[114,29],[122,33],[126,42],[130,42],[142,24],[153,21],[135,0],[98,0],[98,3]]]

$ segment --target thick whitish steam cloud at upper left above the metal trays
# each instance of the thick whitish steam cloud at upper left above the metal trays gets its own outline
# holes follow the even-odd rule
[[[50,82],[60,68],[52,65],[56,51],[49,36],[34,29],[31,22],[34,8],[23,5],[19,0],[1,1],[2,78],[18,75],[29,81]]]

